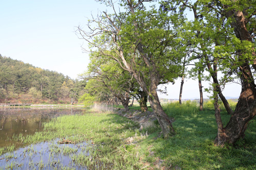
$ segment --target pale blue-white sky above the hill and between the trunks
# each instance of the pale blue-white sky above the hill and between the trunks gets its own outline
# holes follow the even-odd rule
[[[43,69],[78,78],[87,70],[89,54],[83,53],[85,41],[75,34],[76,27],[87,29],[88,18],[105,11],[94,0],[0,0],[0,54]],[[181,80],[166,85],[160,98],[178,99]],[[202,83],[208,87],[208,82]],[[161,88],[161,87],[159,87]],[[162,87],[163,88],[163,87]],[[227,85],[223,94],[238,97],[241,86]],[[210,94],[204,92],[204,98]],[[198,81],[185,79],[183,99],[199,99]]]

